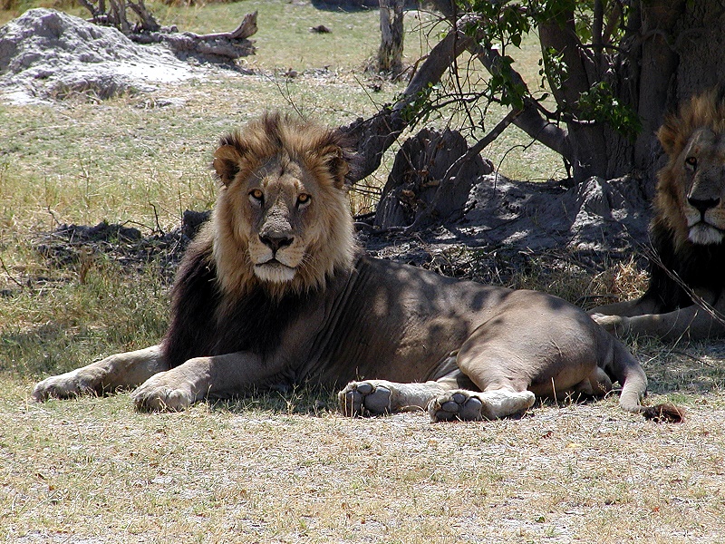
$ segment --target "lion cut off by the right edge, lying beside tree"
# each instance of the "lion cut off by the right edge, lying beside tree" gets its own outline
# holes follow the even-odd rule
[[[722,336],[725,94],[693,97],[664,121],[657,135],[669,160],[658,173],[654,198],[649,287],[636,300],[590,313],[617,335],[670,340]]]

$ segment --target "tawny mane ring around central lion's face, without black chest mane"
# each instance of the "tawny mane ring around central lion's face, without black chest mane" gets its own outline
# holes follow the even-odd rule
[[[350,160],[344,144],[338,131],[279,114],[267,114],[219,142],[214,165],[223,185],[209,230],[213,231],[213,255],[225,296],[237,299],[259,285],[247,252],[254,227],[242,213],[247,198],[242,186],[252,172],[275,156],[303,163],[319,186],[319,199],[330,205],[315,218],[316,236],[308,246],[304,267],[293,281],[266,286],[270,295],[280,297],[324,287],[335,267],[351,266],[355,251],[353,218],[347,213],[347,197],[340,190]]]

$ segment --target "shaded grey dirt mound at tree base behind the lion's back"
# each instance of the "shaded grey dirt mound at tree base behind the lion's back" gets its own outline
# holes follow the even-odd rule
[[[471,188],[459,220],[417,232],[363,225],[360,237],[374,256],[507,284],[533,267],[592,275],[640,255],[649,209],[636,180],[592,178],[566,188],[488,174]]]

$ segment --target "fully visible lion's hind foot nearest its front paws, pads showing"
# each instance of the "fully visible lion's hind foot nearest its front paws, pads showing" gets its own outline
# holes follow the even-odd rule
[[[364,380],[350,382],[337,393],[337,398],[345,415],[378,415],[425,410],[431,399],[446,390],[447,387],[438,382],[397,384],[387,380]]]

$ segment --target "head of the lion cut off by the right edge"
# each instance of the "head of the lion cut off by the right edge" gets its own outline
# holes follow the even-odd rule
[[[660,171],[658,213],[680,244],[725,238],[725,106],[714,93],[695,97],[658,133],[669,162]]]

